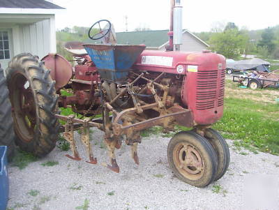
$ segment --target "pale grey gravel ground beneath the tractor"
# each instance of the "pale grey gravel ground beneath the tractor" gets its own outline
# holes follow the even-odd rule
[[[78,137],[77,133],[75,135]],[[246,180],[262,174],[275,181],[268,188],[278,185],[278,156],[255,154],[244,149],[240,153],[232,147],[232,140],[227,140],[231,163],[225,176],[206,188],[196,188],[179,181],[169,169],[168,137],[144,137],[138,147],[140,165],[135,165],[130,158],[130,147],[123,145],[116,151],[121,170],[116,174],[100,165],[108,160],[106,149],[100,148],[103,133],[93,130],[92,136],[93,144],[96,142],[93,152],[98,158],[98,165],[83,161],[86,156],[79,143],[77,146],[82,161],[66,158],[64,155],[70,151],[60,151],[56,147],[47,157],[30,163],[23,170],[10,166],[8,207],[22,210],[82,209],[84,200],[88,200],[88,209],[98,210],[245,209]],[[52,167],[41,165],[47,161],[58,161],[59,164]],[[37,191],[30,193],[31,190]],[[277,195],[273,195],[275,203],[266,209],[279,209],[278,187],[276,190]],[[86,210],[86,204],[83,209]]]

